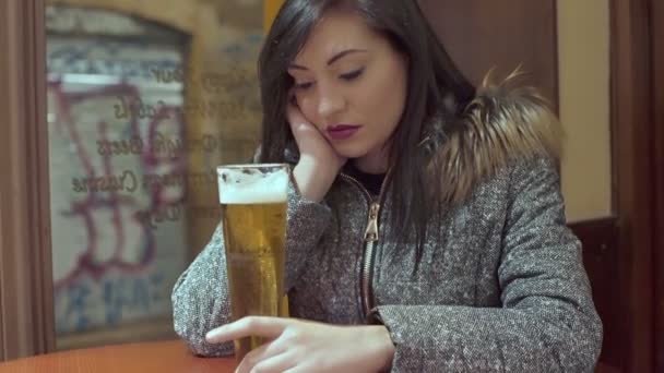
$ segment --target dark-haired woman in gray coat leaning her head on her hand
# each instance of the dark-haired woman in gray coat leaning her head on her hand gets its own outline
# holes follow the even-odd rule
[[[254,335],[271,342],[238,372],[593,370],[602,326],[538,96],[475,89],[404,0],[286,1],[259,72],[256,160],[294,165],[293,317],[229,323],[217,229],[173,293],[195,353]]]

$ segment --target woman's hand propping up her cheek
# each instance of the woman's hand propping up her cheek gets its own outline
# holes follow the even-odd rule
[[[288,104],[287,119],[300,154],[294,169],[295,180],[305,197],[321,201],[347,158],[334,151],[295,103]]]

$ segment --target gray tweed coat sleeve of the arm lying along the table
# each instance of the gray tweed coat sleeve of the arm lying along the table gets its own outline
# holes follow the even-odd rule
[[[379,305],[392,372],[592,372],[602,345],[581,245],[546,159],[511,170],[497,276],[501,308]]]

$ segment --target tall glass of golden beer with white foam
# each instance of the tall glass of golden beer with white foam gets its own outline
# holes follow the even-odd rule
[[[284,251],[288,165],[217,168],[230,316],[287,316]],[[237,361],[265,340],[235,340]]]

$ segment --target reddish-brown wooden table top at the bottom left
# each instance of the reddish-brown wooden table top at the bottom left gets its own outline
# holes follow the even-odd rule
[[[179,340],[106,346],[0,363],[0,373],[233,373],[234,358],[197,358]]]

